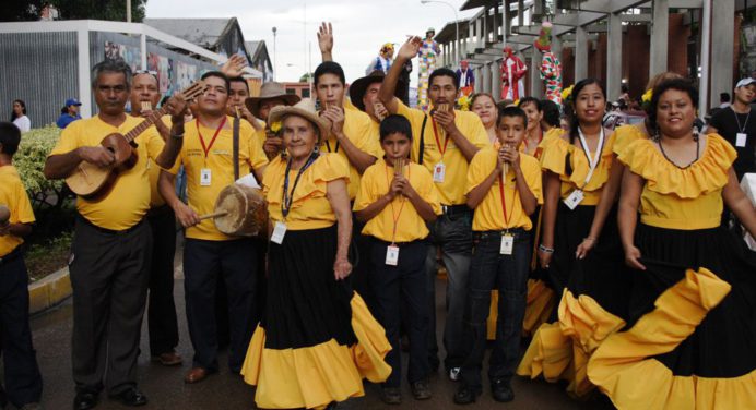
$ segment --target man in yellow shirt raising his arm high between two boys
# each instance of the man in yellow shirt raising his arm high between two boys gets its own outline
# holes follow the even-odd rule
[[[406,117],[416,135],[412,145],[412,160],[426,167],[433,174],[439,192],[444,215],[433,225],[430,238],[440,246],[448,273],[447,323],[444,329],[445,365],[449,377],[457,379],[464,359],[462,347],[462,315],[466,294],[468,273],[472,255],[472,210],[465,205],[464,184],[468,164],[479,149],[488,145],[488,135],[480,118],[466,111],[453,109],[459,91],[459,79],[449,69],[430,73],[428,98],[433,109],[426,114],[420,109],[405,106],[394,97],[397,82],[404,63],[415,57],[422,45],[420,37],[406,40],[397,55],[378,93],[378,98],[391,113]],[[436,248],[428,249],[429,301],[435,303]],[[435,306],[432,309],[435,312]],[[437,367],[435,317],[430,318],[430,364]]]

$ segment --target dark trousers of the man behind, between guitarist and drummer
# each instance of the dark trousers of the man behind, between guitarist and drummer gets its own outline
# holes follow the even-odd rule
[[[178,319],[174,302],[174,254],[176,253],[176,217],[163,206],[147,215],[152,228],[152,264],[147,329],[150,354],[173,352],[178,346]]]

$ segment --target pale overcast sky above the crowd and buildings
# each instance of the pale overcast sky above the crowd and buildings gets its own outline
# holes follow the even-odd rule
[[[448,0],[460,19],[477,10],[460,12],[464,0]],[[407,34],[423,36],[428,27],[439,32],[454,20],[449,5],[421,4],[420,0],[150,0],[150,19],[238,19],[245,40],[264,40],[273,59],[273,32],[276,34],[276,81],[298,81],[320,62],[317,32],[320,22],[333,23],[333,58],[341,63],[346,81],[365,75],[365,68],[383,43],[402,44]],[[311,53],[308,48],[311,45]],[[397,48],[398,50],[398,48]],[[416,85],[415,70],[412,84]]]

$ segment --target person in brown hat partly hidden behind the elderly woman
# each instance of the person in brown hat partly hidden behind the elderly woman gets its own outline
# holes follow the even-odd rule
[[[263,142],[262,150],[265,152],[265,156],[268,156],[269,160],[281,154],[283,146],[277,126],[271,126],[272,122],[268,121],[268,114],[274,107],[293,106],[297,102],[299,102],[299,96],[296,94],[287,94],[283,84],[275,82],[262,84],[262,87],[260,87],[260,96],[248,97],[245,100],[245,106],[247,106],[249,112],[251,112],[255,118],[264,121],[262,128],[256,126],[256,129],[259,129],[257,131],[258,141]]]

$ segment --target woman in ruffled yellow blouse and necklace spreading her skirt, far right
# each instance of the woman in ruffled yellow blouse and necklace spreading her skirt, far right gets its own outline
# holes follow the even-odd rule
[[[651,138],[619,155],[635,324],[610,336],[588,370],[621,409],[756,408],[756,255],[720,227],[725,204],[754,236],[756,212],[735,150],[694,129],[697,99],[685,80],[658,85]]]

